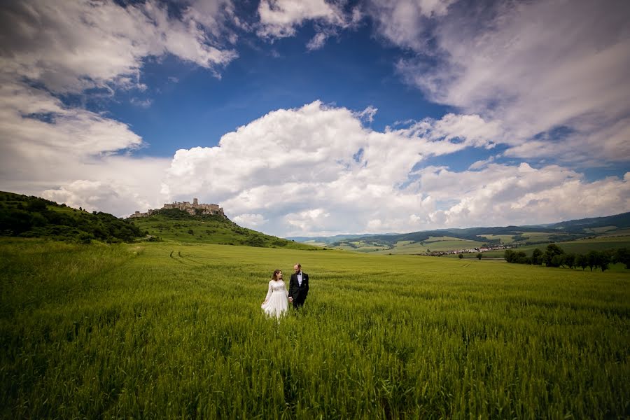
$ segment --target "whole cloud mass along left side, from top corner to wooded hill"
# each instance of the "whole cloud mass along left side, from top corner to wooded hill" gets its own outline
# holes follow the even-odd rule
[[[159,183],[170,160],[134,158],[144,142],[130,127],[54,95],[144,90],[140,69],[148,56],[173,54],[217,71],[236,57],[217,41],[221,13],[229,15],[231,3],[216,1],[217,15],[201,19],[195,10],[209,3],[190,3],[181,20],[151,0],[125,7],[70,0],[3,7],[0,188],[118,216],[161,205]]]

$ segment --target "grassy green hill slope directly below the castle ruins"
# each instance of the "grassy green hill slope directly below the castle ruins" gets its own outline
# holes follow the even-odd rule
[[[263,248],[322,249],[241,228],[229,218],[217,214],[190,215],[179,209],[160,209],[151,216],[127,220],[142,232],[168,241]]]

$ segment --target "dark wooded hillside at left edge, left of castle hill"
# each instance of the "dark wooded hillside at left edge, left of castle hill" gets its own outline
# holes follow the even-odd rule
[[[141,235],[132,223],[102,211],[88,213],[40,197],[0,192],[0,236],[113,243]]]

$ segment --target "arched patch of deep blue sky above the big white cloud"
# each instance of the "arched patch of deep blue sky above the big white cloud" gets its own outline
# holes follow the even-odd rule
[[[377,41],[369,25],[341,34],[326,48],[307,51],[312,26],[306,24],[295,37],[273,44],[252,38],[254,45],[239,50],[221,79],[174,57],[148,63],[142,69],[148,90],[121,92],[118,104],[108,103],[106,109],[151,139],[151,148],[141,153],[163,156],[172,155],[174,138],[181,139],[182,148],[215,146],[226,132],[269,111],[316,99],[349,109],[376,107],[375,130],[418,116],[439,118],[448,109],[428,102],[395,74],[395,61],[404,52]],[[142,109],[130,102],[133,98],[149,99],[151,106]]]

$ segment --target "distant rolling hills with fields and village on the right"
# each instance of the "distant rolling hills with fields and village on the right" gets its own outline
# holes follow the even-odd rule
[[[630,213],[549,225],[439,229],[385,235],[300,238],[330,248],[374,253],[442,253],[476,248],[530,246],[589,237],[628,236]]]

